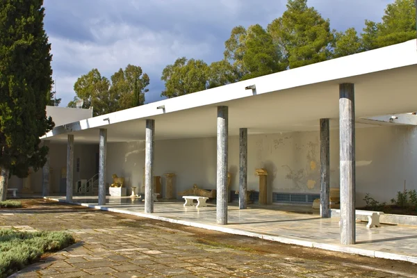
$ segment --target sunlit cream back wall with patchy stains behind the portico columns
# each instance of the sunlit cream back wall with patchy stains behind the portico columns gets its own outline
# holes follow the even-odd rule
[[[157,132],[157,131],[156,131]],[[370,193],[389,202],[398,190],[417,189],[417,129],[413,126],[357,129],[357,204]],[[330,134],[332,187],[339,186],[338,130]],[[214,189],[216,179],[215,138],[161,140],[155,142],[155,176],[177,174],[177,192],[191,188]],[[145,142],[109,143],[107,181],[111,175],[125,177],[126,186],[142,186]],[[232,189],[238,189],[238,137],[229,138],[229,172]],[[295,132],[252,135],[248,139],[248,189],[258,190],[254,170],[268,171],[268,192],[320,193],[319,133]],[[139,190],[142,192],[142,190]],[[129,190],[128,190],[129,192]],[[268,194],[270,195],[270,194]],[[269,196],[270,201],[272,195]]]

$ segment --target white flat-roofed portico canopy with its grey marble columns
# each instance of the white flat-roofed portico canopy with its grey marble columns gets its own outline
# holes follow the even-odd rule
[[[247,136],[320,130],[320,199],[329,217],[329,130],[339,129],[341,243],[355,243],[355,129],[380,115],[416,111],[416,40],[270,74],[191,95],[57,126],[44,140],[67,141],[67,201],[72,201],[74,142],[99,141],[99,205],[106,204],[108,142],[145,140],[145,213],[154,213],[158,141],[217,138],[216,221],[228,223],[228,137],[239,136],[240,208],[245,208]],[[369,122],[371,121],[371,122]],[[375,119],[374,119],[375,121]],[[377,124],[400,122],[395,117]],[[154,142],[156,140],[156,143]],[[198,155],[198,154],[195,154]],[[166,153],[165,156],[170,156]],[[174,165],[170,168],[172,169]],[[108,167],[107,167],[108,168]],[[141,171],[138,169],[138,171]],[[252,171],[252,169],[250,169]],[[47,177],[47,169],[44,175]],[[48,180],[44,179],[47,188]]]

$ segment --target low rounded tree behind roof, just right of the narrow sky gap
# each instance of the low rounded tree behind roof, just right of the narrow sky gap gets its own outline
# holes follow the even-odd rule
[[[165,90],[161,97],[179,97],[208,88],[209,68],[203,60],[178,58],[173,65],[163,69],[161,80],[165,81]]]

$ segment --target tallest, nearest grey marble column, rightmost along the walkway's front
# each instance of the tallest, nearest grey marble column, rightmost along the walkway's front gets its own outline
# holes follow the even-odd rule
[[[339,86],[340,179],[341,179],[341,244],[354,244],[355,235],[355,135],[354,84]]]

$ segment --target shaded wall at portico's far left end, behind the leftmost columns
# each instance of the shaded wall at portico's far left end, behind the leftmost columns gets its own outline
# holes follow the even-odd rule
[[[99,152],[97,145],[74,144],[74,181],[79,179],[90,179],[97,174],[96,156]],[[49,147],[50,166],[52,168],[50,175],[51,193],[65,193],[66,184],[66,167],[67,167],[67,145],[56,144],[51,142]],[[79,158],[80,167],[77,172],[77,158]],[[42,169],[33,172],[30,175],[31,188],[34,193],[42,193]],[[17,188],[18,193],[22,193],[23,179],[12,177],[9,180],[9,188]]]

